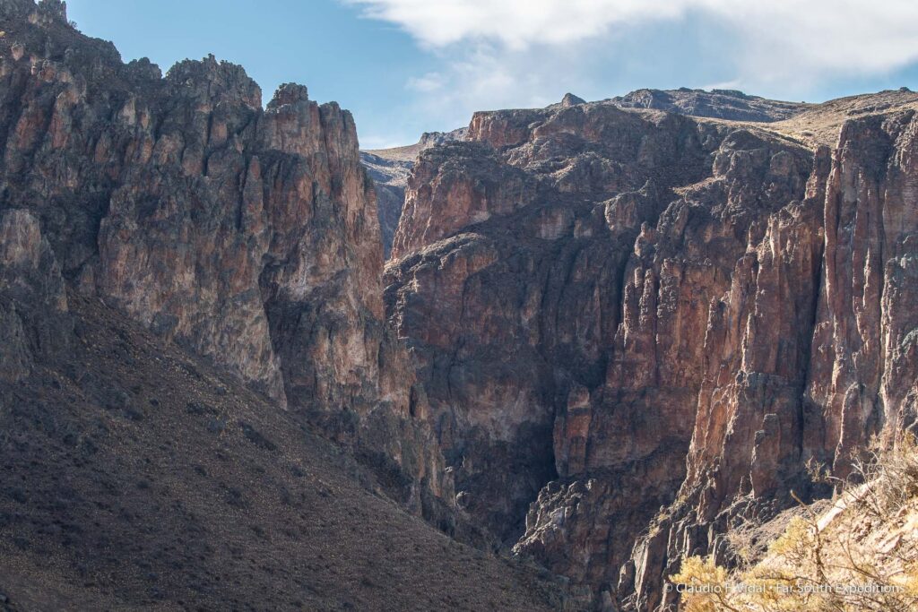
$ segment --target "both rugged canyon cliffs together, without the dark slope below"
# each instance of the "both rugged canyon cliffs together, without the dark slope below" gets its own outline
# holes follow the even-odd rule
[[[339,106],[263,108],[212,57],[124,64],[57,0],[0,18],[7,384],[101,299],[585,609],[675,605],[686,555],[831,493],[808,463],[844,477],[914,427],[911,92],[478,113],[411,153],[384,277]]]

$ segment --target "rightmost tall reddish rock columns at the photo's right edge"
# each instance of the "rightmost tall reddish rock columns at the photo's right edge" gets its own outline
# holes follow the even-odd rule
[[[826,418],[813,442],[834,451],[836,471],[865,433],[914,423],[916,129],[913,112],[846,123],[828,180],[807,395]]]

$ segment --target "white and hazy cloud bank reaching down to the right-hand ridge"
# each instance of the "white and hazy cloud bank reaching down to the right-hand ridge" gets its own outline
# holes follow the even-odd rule
[[[441,58],[441,69],[406,83],[441,116],[541,103],[561,82],[605,82],[616,95],[621,83],[655,86],[664,70],[674,86],[731,83],[801,99],[833,79],[918,61],[915,0],[341,1]],[[711,70],[700,73],[702,63]]]

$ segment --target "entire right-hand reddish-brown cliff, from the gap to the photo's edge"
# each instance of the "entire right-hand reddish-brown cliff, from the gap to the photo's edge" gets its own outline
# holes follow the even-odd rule
[[[806,462],[911,427],[915,103],[777,128],[555,105],[422,153],[386,308],[465,512],[653,609],[731,521],[824,493]]]

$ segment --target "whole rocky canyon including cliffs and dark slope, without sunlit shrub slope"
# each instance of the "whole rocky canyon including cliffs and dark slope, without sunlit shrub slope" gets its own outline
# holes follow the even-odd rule
[[[362,152],[305,86],[0,19],[0,606],[675,610],[918,424],[911,91]]]

